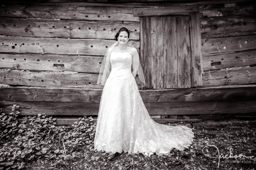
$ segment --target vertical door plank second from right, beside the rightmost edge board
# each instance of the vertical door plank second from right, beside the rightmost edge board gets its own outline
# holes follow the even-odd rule
[[[188,16],[177,16],[178,88],[191,86],[191,53]]]

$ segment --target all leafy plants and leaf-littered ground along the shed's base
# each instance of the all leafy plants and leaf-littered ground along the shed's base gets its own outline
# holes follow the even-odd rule
[[[108,160],[104,152],[94,150],[96,124],[91,117],[80,118],[80,122],[71,126],[55,126],[55,118],[38,114],[25,117],[18,124],[18,106],[12,108],[8,115],[0,111],[0,170],[254,170],[256,167],[255,129],[193,129],[194,142],[184,151],[173,149],[166,156],[148,157],[118,153]]]

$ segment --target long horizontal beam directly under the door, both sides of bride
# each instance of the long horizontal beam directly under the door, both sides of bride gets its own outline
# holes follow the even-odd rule
[[[1,87],[0,101],[100,103],[102,89]],[[143,102],[194,102],[211,100],[256,100],[256,85],[140,90]]]

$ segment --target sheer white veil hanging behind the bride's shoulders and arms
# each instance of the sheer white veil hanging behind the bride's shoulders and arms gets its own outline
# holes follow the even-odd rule
[[[112,44],[109,49],[107,50],[104,58],[103,58],[103,61],[102,61],[102,64],[101,64],[101,68],[100,68],[100,74],[99,74],[99,77],[98,77],[98,81],[97,81],[97,84],[101,84],[101,85],[105,85],[106,81],[107,81],[107,68],[110,64],[110,54],[112,52],[112,50],[114,49],[114,47],[118,46],[119,45],[119,42],[116,41],[114,44]],[[135,48],[131,43],[127,43],[128,47],[132,47],[132,48]],[[137,51],[137,49],[136,49]],[[139,57],[139,54],[138,52],[136,53],[135,56],[133,57],[136,57],[137,59],[137,75],[139,77],[139,80],[140,81],[136,81],[137,83],[137,86],[138,87],[144,87],[145,86],[145,78],[144,78],[144,74],[143,74],[143,70],[142,70],[142,67],[140,65],[140,57]]]

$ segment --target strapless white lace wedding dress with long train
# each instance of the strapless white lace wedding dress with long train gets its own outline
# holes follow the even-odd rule
[[[131,73],[132,56],[112,52],[111,73],[102,91],[95,133],[95,149],[145,156],[169,154],[192,144],[194,133],[186,126],[154,122],[142,101]]]

